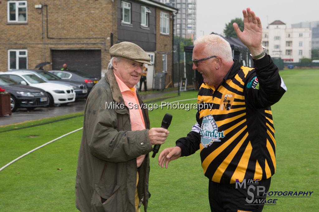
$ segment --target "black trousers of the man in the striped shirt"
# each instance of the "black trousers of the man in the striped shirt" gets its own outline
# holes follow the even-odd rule
[[[209,181],[208,198],[209,198],[209,204],[211,206],[211,211],[214,211],[214,212],[233,212],[233,211],[234,212],[237,212],[237,211],[260,212],[262,211],[263,204],[258,202],[263,202],[262,200],[265,199],[264,192],[268,192],[270,181],[271,181],[271,178],[267,180],[259,181],[258,184],[253,184],[252,185],[253,187],[251,188],[249,188],[250,185],[247,183],[246,183],[246,188],[244,188],[244,186],[242,186],[241,188],[238,186],[238,188],[236,188],[236,183],[221,184],[221,183]],[[259,194],[257,194],[257,186],[261,186],[259,187],[260,190],[262,190],[264,187],[265,191],[259,192]],[[249,195],[248,195],[248,189],[249,189]],[[251,196],[252,194],[254,195],[253,202],[251,203],[246,202],[246,198],[248,198],[248,200],[252,200],[252,196]],[[256,196],[263,196],[263,197],[256,197]]]

